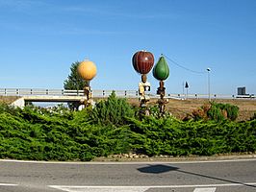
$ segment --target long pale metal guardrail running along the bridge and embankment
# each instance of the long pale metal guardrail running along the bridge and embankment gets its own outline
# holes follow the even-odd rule
[[[117,97],[138,98],[137,90],[91,90],[93,97],[108,97],[115,91]],[[84,90],[42,89],[42,88],[0,88],[0,96],[84,96]],[[148,94],[151,98],[159,95]],[[175,99],[208,99],[208,94],[166,94],[166,98]],[[211,94],[211,99],[255,99],[254,95]]]

